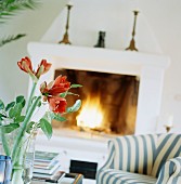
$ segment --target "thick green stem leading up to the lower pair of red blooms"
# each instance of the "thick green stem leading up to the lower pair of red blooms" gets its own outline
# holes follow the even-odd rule
[[[16,158],[17,158],[17,155],[18,155],[18,152],[17,149],[20,149],[21,147],[21,143],[22,143],[22,139],[23,136],[25,135],[25,132],[26,132],[26,128],[27,128],[27,124],[34,114],[34,110],[35,108],[37,107],[37,104],[39,103],[41,96],[38,96],[33,105],[30,106],[30,108],[28,108],[28,111],[26,114],[26,118],[25,120],[23,121],[23,124],[22,124],[22,129],[20,130],[16,139],[15,139],[15,142],[14,142],[14,146],[13,146],[13,150],[12,150],[12,160],[13,160],[13,165],[16,162]]]

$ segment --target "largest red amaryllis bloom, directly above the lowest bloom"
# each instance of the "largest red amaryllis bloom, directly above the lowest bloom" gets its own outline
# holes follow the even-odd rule
[[[53,82],[50,82],[48,86],[43,82],[40,86],[40,91],[42,95],[57,96],[60,93],[64,93],[70,88],[70,82],[66,80],[66,76],[59,76]]]

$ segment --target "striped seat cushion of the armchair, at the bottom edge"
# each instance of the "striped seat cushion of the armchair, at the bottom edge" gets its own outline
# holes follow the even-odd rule
[[[157,179],[115,169],[99,171],[96,183],[101,184],[155,184]]]

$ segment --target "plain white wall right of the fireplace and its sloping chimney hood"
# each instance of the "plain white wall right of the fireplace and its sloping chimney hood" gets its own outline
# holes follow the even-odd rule
[[[146,0],[139,1],[140,9],[146,15],[150,25],[160,44],[163,53],[171,58],[171,65],[165,75],[161,114],[158,129],[163,130],[168,117],[173,115],[173,132],[181,133],[181,1]]]

